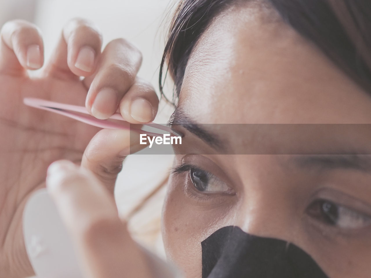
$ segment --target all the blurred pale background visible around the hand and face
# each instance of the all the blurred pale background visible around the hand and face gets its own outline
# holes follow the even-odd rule
[[[21,18],[39,26],[45,44],[45,58],[48,59],[69,19],[83,17],[91,20],[101,30],[104,45],[112,39],[124,37],[141,50],[143,63],[139,76],[149,80],[158,92],[158,67],[174,3],[174,0],[0,0],[0,21],[3,24]],[[155,122],[166,123],[172,111],[171,106],[162,105]],[[125,160],[116,183],[116,201],[121,215],[127,215],[164,181],[172,160],[171,155],[132,155]],[[133,230],[140,234],[146,225],[154,225],[151,236],[139,235],[138,238],[161,249],[157,230],[164,188],[155,196],[148,202],[147,212],[134,218]]]

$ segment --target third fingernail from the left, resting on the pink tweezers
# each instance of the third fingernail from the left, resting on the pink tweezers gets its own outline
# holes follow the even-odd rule
[[[114,89],[105,88],[99,91],[92,105],[95,118],[105,120],[111,117],[117,109],[117,93]]]

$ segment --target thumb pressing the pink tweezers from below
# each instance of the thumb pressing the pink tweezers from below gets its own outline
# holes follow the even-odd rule
[[[81,167],[92,171],[113,194],[125,157],[146,147],[139,142],[139,133],[132,130],[102,129],[86,147]]]

